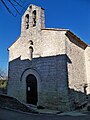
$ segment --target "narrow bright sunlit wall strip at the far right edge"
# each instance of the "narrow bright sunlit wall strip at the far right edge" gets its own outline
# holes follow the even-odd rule
[[[90,94],[90,46],[85,49],[85,63],[87,75],[87,94]]]

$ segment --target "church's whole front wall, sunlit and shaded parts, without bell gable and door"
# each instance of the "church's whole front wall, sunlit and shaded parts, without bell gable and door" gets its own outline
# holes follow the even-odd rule
[[[27,40],[21,37],[20,42],[13,44],[9,51],[9,95],[26,102],[26,82],[20,79],[23,71],[29,68],[35,70],[40,76],[38,105],[63,111],[69,110],[64,34],[65,31],[42,30],[39,45],[38,43],[33,45],[36,50],[34,50],[32,61],[27,54],[29,49]],[[35,38],[34,34],[34,41],[35,39],[37,36]],[[37,51],[40,52],[36,56]]]

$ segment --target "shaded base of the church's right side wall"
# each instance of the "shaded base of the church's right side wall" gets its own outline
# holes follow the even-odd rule
[[[69,88],[69,101],[71,110],[81,110],[90,106],[90,94],[87,95],[81,91],[75,91]]]

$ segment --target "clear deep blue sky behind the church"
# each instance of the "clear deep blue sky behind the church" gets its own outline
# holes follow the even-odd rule
[[[81,40],[90,44],[90,0],[25,1],[45,9],[46,28],[69,29]],[[13,11],[12,7],[9,7]],[[0,68],[2,69],[8,70],[7,49],[20,35],[23,13],[13,16],[0,2]]]

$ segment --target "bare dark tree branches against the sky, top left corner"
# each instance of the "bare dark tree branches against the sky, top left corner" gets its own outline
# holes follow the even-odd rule
[[[22,14],[23,10],[30,4],[29,0],[1,0],[1,3],[13,16]]]

